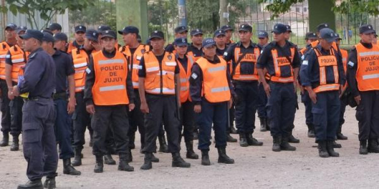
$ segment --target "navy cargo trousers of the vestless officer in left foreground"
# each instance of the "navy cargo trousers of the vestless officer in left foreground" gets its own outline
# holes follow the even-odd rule
[[[52,99],[27,100],[22,108],[22,145],[29,180],[57,176],[58,152]]]

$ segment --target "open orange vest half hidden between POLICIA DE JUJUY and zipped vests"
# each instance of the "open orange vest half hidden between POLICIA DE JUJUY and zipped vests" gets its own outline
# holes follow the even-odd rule
[[[133,83],[133,88],[138,89],[138,70],[139,70],[139,61],[141,60],[142,56],[145,52],[149,51],[150,47],[149,45],[143,45],[140,44],[137,49],[135,49],[133,53],[133,58],[129,61],[129,70],[131,71],[131,80]],[[131,57],[131,52],[129,49],[129,46],[123,46],[119,48],[119,51],[127,55],[128,57]]]

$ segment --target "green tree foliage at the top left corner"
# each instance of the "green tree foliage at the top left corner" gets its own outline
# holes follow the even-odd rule
[[[11,11],[13,15],[17,13],[25,14],[31,28],[46,28],[49,21],[56,14],[64,14],[66,9],[69,11],[83,10],[88,5],[93,5],[91,0],[5,0],[8,6],[1,6],[3,13]],[[39,17],[46,21],[41,28],[37,28],[37,20]]]

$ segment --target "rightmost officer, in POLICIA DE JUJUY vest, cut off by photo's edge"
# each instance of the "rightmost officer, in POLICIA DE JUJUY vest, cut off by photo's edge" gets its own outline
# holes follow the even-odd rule
[[[347,81],[357,103],[359,153],[379,153],[379,47],[372,45],[374,30],[371,25],[359,27],[360,42],[349,53]],[[367,144],[368,142],[368,144]]]

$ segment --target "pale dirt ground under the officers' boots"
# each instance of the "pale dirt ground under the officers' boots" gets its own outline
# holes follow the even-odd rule
[[[202,166],[200,160],[186,161],[191,168],[171,167],[171,154],[158,153],[159,163],[153,169],[143,171],[143,155],[139,153],[139,140],[132,150],[134,172],[121,172],[117,165],[105,165],[103,173],[94,173],[94,156],[88,144],[84,147],[83,165],[76,167],[80,176],[62,173],[62,161],[58,166],[58,188],[377,188],[379,181],[379,154],[359,155],[358,126],[355,110],[348,107],[343,133],[347,141],[338,141],[342,149],[338,158],[320,158],[314,139],[306,136],[304,105],[299,104],[296,113],[294,136],[300,138],[295,152],[272,152],[272,138],[269,132],[254,133],[254,137],[264,142],[262,147],[240,147],[238,143],[228,143],[227,154],[235,164],[217,163],[217,150],[211,148],[210,166]],[[256,120],[259,125],[259,119]],[[259,128],[259,127],[257,127]],[[238,135],[232,135],[237,138]],[[86,136],[88,140],[88,135]],[[136,137],[139,139],[139,137]],[[198,141],[195,141],[197,146]],[[0,188],[16,188],[27,181],[26,161],[22,148],[11,152],[10,147],[0,148]],[[185,149],[182,144],[182,149]],[[200,151],[196,150],[200,155]],[[181,151],[185,157],[185,150]],[[118,161],[118,157],[114,156]],[[44,179],[42,179],[43,181]]]

